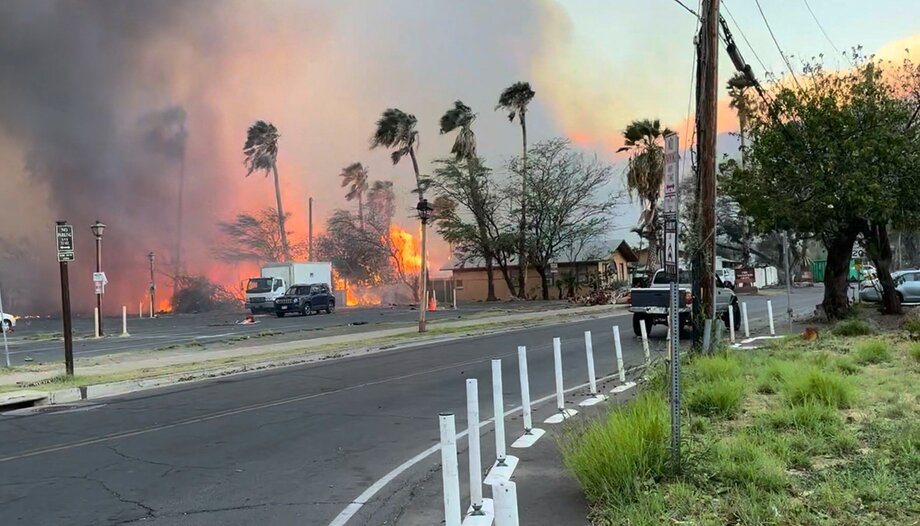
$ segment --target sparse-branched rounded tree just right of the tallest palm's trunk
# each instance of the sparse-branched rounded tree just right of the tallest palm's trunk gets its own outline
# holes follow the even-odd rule
[[[512,161],[512,171],[520,160]],[[596,157],[585,159],[565,139],[536,144],[529,152],[527,201],[533,211],[529,259],[549,299],[547,272],[555,257],[586,246],[607,232],[619,196],[608,188],[613,168]]]

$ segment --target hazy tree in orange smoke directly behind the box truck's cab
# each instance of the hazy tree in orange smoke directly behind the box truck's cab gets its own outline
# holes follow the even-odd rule
[[[215,255],[224,261],[258,262],[283,261],[291,253],[304,256],[307,251],[305,243],[285,247],[277,228],[277,218],[278,212],[274,208],[263,208],[255,214],[240,213],[233,221],[218,223],[217,227],[226,239],[214,250]]]

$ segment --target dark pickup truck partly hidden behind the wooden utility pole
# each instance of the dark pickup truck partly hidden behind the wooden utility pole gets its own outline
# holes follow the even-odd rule
[[[692,324],[691,310],[693,296],[690,292],[690,273],[681,270],[678,274],[678,287],[680,297],[683,300],[680,308],[680,325],[686,327]],[[668,306],[670,304],[670,283],[663,270],[655,272],[652,278],[652,285],[648,288],[634,288],[630,293],[629,311],[633,313],[633,332],[636,336],[641,335],[642,330],[639,324],[645,320],[647,330],[655,325],[668,324]],[[738,306],[738,298],[735,293],[722,283],[722,280],[716,279],[716,315],[722,318],[725,326],[728,327],[728,309],[734,311],[735,330],[741,326],[741,309]]]

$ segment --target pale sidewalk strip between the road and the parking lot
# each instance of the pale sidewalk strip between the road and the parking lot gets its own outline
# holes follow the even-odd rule
[[[555,311],[539,311],[494,317],[478,317],[459,321],[439,321],[429,324],[429,332],[419,335],[413,326],[382,329],[371,332],[340,334],[284,343],[241,345],[228,349],[202,349],[185,346],[169,351],[142,351],[79,358],[75,362],[80,377],[131,375],[154,377],[202,370],[212,375],[230,374],[242,367],[266,368],[329,358],[354,356],[387,350],[396,345],[431,343],[454,339],[454,333],[481,334],[495,330],[522,328],[536,324],[556,323],[561,319],[589,319],[625,312],[622,305],[576,307]],[[230,368],[229,372],[227,368]],[[240,371],[236,371],[240,372]],[[35,386],[64,374],[63,364],[43,368],[16,367],[0,372],[0,387]]]

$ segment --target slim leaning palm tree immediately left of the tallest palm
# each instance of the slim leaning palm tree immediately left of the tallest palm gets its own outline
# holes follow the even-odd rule
[[[476,156],[476,134],[473,133],[473,121],[476,120],[476,114],[469,106],[461,101],[454,102],[454,107],[450,108],[441,116],[441,133],[450,133],[454,130],[457,137],[454,138],[454,146],[450,153],[454,154],[458,161],[466,161],[467,172],[470,178],[476,178],[479,172],[479,158]],[[478,184],[471,184],[473,189],[472,198],[478,203],[482,203],[482,195],[479,192]],[[488,248],[488,230],[486,228],[485,218],[481,214],[475,218],[476,226],[479,230],[480,241],[484,245],[484,259],[486,263],[486,301],[498,301],[495,296],[495,278],[492,268],[492,253]]]

